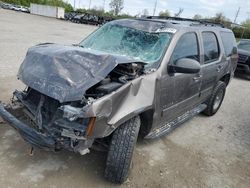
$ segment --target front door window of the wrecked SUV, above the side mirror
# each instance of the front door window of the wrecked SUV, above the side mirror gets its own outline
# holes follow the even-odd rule
[[[190,58],[200,61],[199,45],[195,33],[186,33],[179,39],[171,57],[171,63],[175,64],[179,59]]]

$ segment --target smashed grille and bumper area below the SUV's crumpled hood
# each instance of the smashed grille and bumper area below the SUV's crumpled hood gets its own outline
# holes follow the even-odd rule
[[[58,151],[66,149],[88,153],[93,139],[88,138],[95,118],[72,119],[70,109],[76,109],[77,103],[61,104],[59,101],[28,88],[25,91],[15,91],[11,104],[0,104],[0,116],[11,124],[25,141],[31,145]],[[91,127],[89,127],[90,129]]]

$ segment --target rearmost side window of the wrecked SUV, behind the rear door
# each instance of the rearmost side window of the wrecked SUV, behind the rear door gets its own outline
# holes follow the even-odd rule
[[[231,32],[221,32],[221,39],[225,49],[226,56],[231,56],[233,48],[237,47],[234,34]]]

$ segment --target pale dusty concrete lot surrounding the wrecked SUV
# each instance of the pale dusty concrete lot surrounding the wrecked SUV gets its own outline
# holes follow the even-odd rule
[[[0,100],[16,88],[27,49],[43,42],[77,43],[95,27],[0,9]],[[118,187],[103,178],[105,154],[35,150],[0,123],[0,187]],[[133,170],[121,187],[250,185],[250,82],[234,79],[221,110],[199,115],[170,135],[139,141]]]

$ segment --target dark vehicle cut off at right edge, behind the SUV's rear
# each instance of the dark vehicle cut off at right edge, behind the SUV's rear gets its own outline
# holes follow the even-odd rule
[[[240,40],[238,55],[237,73],[243,74],[247,79],[250,79],[250,39]]]

